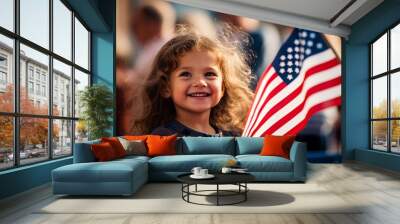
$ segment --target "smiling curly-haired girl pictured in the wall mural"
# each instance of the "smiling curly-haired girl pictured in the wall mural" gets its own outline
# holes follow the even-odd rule
[[[253,93],[247,55],[229,37],[181,27],[158,52],[134,121],[138,133],[227,136],[243,131]],[[243,42],[243,39],[240,40]]]

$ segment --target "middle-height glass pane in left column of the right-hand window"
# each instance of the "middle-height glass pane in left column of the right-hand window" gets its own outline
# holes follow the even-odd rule
[[[386,76],[372,80],[372,118],[387,118]]]

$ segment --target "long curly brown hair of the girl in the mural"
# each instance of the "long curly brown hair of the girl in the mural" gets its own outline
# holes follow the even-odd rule
[[[211,109],[210,124],[219,129],[242,133],[253,92],[250,89],[251,69],[248,65],[244,40],[248,35],[225,25],[218,39],[200,35],[187,27],[180,27],[177,35],[168,41],[154,59],[151,73],[139,94],[143,107],[133,121],[132,133],[150,133],[154,128],[175,119],[171,98],[163,91],[169,84],[170,74],[178,68],[180,58],[192,51],[210,51],[217,56],[223,76],[224,95]],[[138,108],[139,109],[139,108]]]

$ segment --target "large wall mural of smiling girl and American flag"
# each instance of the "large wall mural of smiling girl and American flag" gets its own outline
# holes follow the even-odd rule
[[[296,135],[340,160],[341,40],[167,1],[118,1],[118,135]]]

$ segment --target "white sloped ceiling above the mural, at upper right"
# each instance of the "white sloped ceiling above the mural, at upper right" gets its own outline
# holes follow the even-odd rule
[[[169,1],[342,37],[350,34],[350,26],[353,23],[383,2],[383,0]]]

